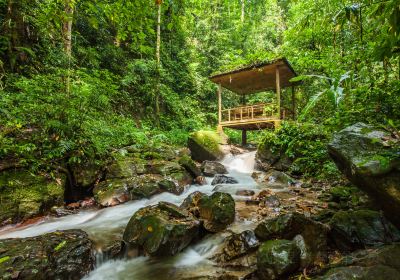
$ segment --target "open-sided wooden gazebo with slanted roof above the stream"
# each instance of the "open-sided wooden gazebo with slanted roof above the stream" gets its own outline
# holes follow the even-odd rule
[[[242,130],[242,144],[246,144],[246,131],[264,128],[276,128],[281,120],[295,118],[295,85],[290,79],[296,77],[286,58],[272,62],[260,63],[236,69],[230,72],[214,75],[210,80],[218,85],[218,129],[224,127]],[[290,108],[281,106],[281,89],[291,87]],[[245,96],[258,92],[275,90],[276,102],[242,104],[236,108],[222,109],[222,88]],[[245,98],[242,100],[245,103]]]

